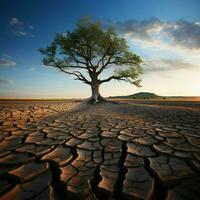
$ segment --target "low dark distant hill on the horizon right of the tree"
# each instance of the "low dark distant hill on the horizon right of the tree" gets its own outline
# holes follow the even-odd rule
[[[157,98],[162,98],[162,96],[158,96],[154,93],[151,92],[139,92],[136,94],[131,94],[127,96],[114,96],[114,97],[109,97],[109,98],[116,98],[116,99],[157,99]]]

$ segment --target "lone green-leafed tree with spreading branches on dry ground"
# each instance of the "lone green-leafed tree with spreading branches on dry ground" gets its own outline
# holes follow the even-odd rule
[[[44,55],[44,65],[56,67],[90,85],[91,103],[104,100],[99,93],[102,83],[118,80],[140,86],[141,58],[130,51],[126,40],[113,28],[105,30],[98,21],[79,20],[74,31],[57,33],[54,41],[40,48],[40,52]],[[100,78],[105,70],[104,78]]]

